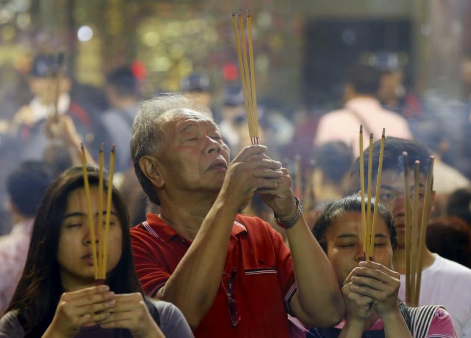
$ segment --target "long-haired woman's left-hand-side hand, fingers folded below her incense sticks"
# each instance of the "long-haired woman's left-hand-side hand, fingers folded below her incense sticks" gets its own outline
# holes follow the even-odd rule
[[[65,292],[59,300],[54,318],[43,338],[69,338],[77,335],[82,326],[93,326],[110,317],[115,294],[106,285]]]

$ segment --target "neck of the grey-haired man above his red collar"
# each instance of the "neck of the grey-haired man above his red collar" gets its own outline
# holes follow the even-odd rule
[[[216,193],[188,193],[160,198],[160,217],[173,230],[189,240],[194,240],[209,209],[217,198]]]

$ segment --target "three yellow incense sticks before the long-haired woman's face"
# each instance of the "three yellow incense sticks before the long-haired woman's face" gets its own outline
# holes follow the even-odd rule
[[[82,154],[82,170],[83,170],[83,185],[85,189],[85,198],[87,206],[87,220],[90,232],[90,241],[92,244],[93,254],[93,267],[95,269],[95,280],[97,284],[104,284],[106,279],[106,261],[108,257],[108,234],[109,234],[109,221],[111,216],[111,197],[113,193],[113,172],[114,172],[114,144],[111,146],[111,155],[109,159],[109,176],[108,176],[108,189],[106,196],[106,213],[105,213],[105,231],[103,231],[103,197],[104,197],[104,153],[103,144],[100,149],[100,167],[98,179],[98,253],[95,242],[95,226],[92,215],[92,203],[90,199],[90,185],[88,182],[87,161],[85,158],[85,148],[83,143],[80,146]]]

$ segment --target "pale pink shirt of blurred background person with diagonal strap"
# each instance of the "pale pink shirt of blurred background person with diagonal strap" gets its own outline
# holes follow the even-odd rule
[[[406,119],[384,109],[376,99],[363,96],[348,101],[343,109],[331,111],[320,118],[314,146],[342,141],[353,149],[354,156],[358,156],[361,124],[363,124],[364,149],[369,145],[369,134],[373,133],[374,141],[379,140],[383,128],[386,128],[386,136],[413,139]]]

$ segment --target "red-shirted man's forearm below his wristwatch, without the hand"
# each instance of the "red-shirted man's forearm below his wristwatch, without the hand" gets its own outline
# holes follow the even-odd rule
[[[344,303],[330,261],[309,230],[304,217],[287,229],[286,233],[297,284],[297,294],[293,298],[297,297],[302,310],[310,319],[307,324],[319,327],[337,324],[343,317]]]

